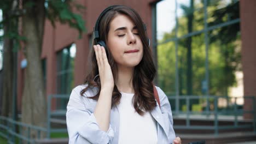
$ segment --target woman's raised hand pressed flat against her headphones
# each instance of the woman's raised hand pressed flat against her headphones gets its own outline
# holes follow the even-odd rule
[[[98,64],[98,73],[101,79],[101,89],[113,89],[114,88],[114,78],[112,70],[108,63],[108,58],[106,51],[103,46],[94,45],[94,51],[96,54],[97,64]]]

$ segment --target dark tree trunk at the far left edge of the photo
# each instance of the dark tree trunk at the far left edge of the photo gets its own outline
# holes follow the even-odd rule
[[[4,35],[0,37],[3,41],[3,93],[1,115],[16,118],[16,109],[13,105],[13,98],[16,95],[16,71],[18,43],[22,37],[18,34],[18,17],[15,15],[18,8],[17,1],[1,1],[0,9],[3,12],[3,21],[0,22],[0,29]],[[14,112],[14,113],[13,113]]]

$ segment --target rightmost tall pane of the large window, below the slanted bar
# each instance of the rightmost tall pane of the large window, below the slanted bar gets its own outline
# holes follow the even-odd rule
[[[230,25],[209,32],[208,59],[211,95],[234,95],[230,90],[237,86],[236,77],[242,73],[239,27],[239,25]]]

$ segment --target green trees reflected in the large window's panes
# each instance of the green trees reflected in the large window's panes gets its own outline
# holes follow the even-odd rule
[[[222,8],[218,1],[207,5],[208,11],[208,26],[217,25],[230,19],[239,17],[239,2],[231,2]],[[181,37],[188,32],[193,32],[203,29],[203,9],[200,8],[202,3],[194,4],[197,10],[193,8],[182,6],[185,16],[179,17],[178,36]],[[193,20],[189,20],[189,14],[194,13]],[[190,22],[193,21],[193,24]],[[190,24],[189,24],[190,23]],[[210,94],[211,95],[225,95],[227,89],[234,86],[236,83],[235,72],[240,70],[240,28],[239,23],[229,26],[214,29],[208,32],[209,49],[208,62],[210,71]],[[168,39],[174,38],[175,29],[170,33],[165,33],[164,37],[158,42],[161,43]],[[191,48],[189,52],[188,47]],[[194,35],[193,37],[183,38],[178,40],[178,57],[175,59],[175,45],[174,41],[166,44],[158,45],[158,72],[159,84],[164,91],[174,95],[174,79],[175,79],[175,61],[178,61],[179,69],[179,94],[189,94],[188,86],[193,91],[193,95],[203,95],[202,81],[205,80],[205,33]],[[190,56],[191,55],[191,56]],[[191,67],[189,66],[190,64]],[[186,72],[187,71],[187,72]],[[189,75],[188,71],[193,77],[193,82],[188,85]]]

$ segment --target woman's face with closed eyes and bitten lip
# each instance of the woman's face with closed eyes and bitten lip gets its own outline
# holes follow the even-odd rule
[[[130,17],[118,14],[111,22],[107,46],[118,67],[135,67],[143,57],[143,45]]]

